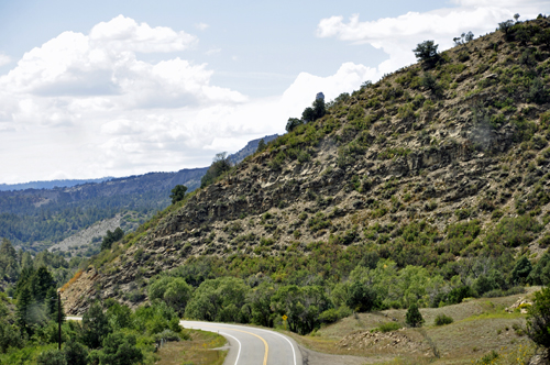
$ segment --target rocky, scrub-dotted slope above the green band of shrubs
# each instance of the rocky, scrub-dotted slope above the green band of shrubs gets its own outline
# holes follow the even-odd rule
[[[65,290],[67,311],[139,303],[190,257],[288,261],[327,244],[398,267],[535,262],[550,242],[549,30],[541,16],[341,95],[102,252]]]

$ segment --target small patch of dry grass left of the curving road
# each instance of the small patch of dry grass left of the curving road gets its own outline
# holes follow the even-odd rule
[[[226,344],[226,339],[217,333],[185,330],[191,336],[190,341],[168,342],[157,355],[157,365],[221,365],[227,351],[212,350]]]

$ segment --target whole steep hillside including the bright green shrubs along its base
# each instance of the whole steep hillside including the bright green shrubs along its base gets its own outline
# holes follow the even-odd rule
[[[101,252],[65,288],[67,312],[169,303],[155,290],[183,278],[188,318],[288,314],[306,334],[351,309],[547,285],[549,30],[517,23],[341,95]]]

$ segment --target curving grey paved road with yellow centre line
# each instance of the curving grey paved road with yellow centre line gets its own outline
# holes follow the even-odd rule
[[[179,323],[186,329],[199,329],[223,335],[230,344],[223,365],[302,365],[296,342],[278,332],[226,323]]]

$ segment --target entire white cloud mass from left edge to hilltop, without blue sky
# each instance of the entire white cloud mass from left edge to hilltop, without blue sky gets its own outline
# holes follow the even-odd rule
[[[369,43],[388,59],[377,68],[344,63],[329,77],[301,73],[283,95],[263,99],[212,85],[208,65],[182,58],[182,51],[193,52],[198,42],[187,33],[124,16],[100,23],[89,34],[65,32],[0,76],[0,148],[10,155],[0,161],[2,179],[206,166],[217,152],[283,133],[286,120],[299,117],[317,92],[331,100],[415,62],[411,49],[421,41],[433,38],[444,48],[462,32],[483,34],[516,12],[530,14],[518,2],[498,7],[480,0],[487,5],[475,7],[457,1],[454,9],[374,21],[359,15],[321,20],[318,36]],[[535,1],[525,3],[534,8]],[[164,60],[140,59],[150,51],[165,53]]]

